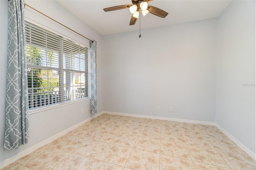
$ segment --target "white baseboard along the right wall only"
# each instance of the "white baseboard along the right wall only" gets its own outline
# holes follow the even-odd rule
[[[215,123],[215,126],[223,132],[228,138],[230,138],[237,146],[239,146],[244,152],[246,152],[252,159],[256,160],[256,153],[252,152],[250,149],[248,149],[244,144],[242,144],[239,140],[237,140],[234,136],[232,136],[230,133],[228,133],[224,128],[222,128],[220,125]]]

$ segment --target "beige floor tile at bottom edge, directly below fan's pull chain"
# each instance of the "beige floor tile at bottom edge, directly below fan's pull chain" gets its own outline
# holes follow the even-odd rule
[[[133,149],[125,167],[133,170],[159,170],[159,158],[159,154]]]

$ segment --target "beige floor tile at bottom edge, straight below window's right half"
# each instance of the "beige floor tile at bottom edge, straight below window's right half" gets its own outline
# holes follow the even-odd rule
[[[93,161],[93,158],[70,154],[65,160],[52,168],[52,170],[86,170]]]

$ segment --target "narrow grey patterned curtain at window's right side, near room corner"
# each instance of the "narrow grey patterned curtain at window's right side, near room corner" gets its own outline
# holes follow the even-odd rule
[[[97,113],[97,42],[90,42],[91,48],[91,113]]]

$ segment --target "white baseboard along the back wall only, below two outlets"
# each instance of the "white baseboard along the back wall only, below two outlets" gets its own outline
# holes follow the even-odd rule
[[[147,116],[141,114],[128,114],[128,113],[118,113],[118,112],[104,112],[106,114],[114,114],[120,116],[130,116],[136,118],[147,118],[147,119],[157,119],[157,120],[168,120],[174,122],[184,122],[184,123],[192,123],[192,124],[204,124],[204,125],[211,125],[215,126],[215,122],[205,122],[205,121],[198,121],[198,120],[187,120],[187,119],[177,119],[177,118],[166,118],[166,117],[158,117],[158,116]]]

